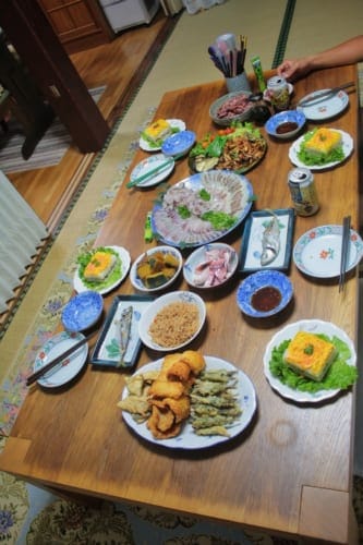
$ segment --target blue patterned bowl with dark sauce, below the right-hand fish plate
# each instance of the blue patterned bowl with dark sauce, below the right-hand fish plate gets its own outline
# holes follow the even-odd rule
[[[292,283],[283,272],[258,270],[240,283],[237,304],[247,316],[266,318],[282,311],[292,294]]]

